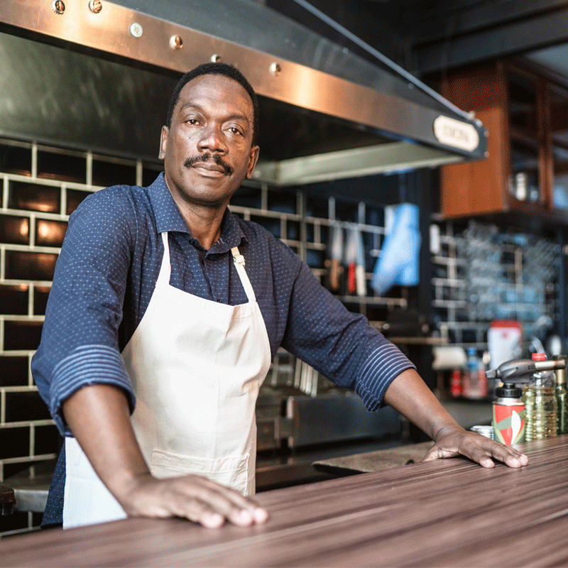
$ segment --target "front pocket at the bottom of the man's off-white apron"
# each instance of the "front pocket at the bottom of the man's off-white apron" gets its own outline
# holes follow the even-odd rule
[[[254,492],[254,490],[249,491],[249,454],[209,459],[182,456],[155,449],[152,452],[151,470],[155,477],[195,474],[230,487],[243,495]]]

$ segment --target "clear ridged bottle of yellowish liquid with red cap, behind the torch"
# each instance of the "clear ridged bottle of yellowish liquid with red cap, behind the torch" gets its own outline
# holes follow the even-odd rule
[[[546,354],[533,353],[533,361],[545,361]],[[554,371],[532,374],[523,391],[526,406],[525,440],[556,436],[556,378]]]

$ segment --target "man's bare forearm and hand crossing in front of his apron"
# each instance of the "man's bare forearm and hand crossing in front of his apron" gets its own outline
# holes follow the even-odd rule
[[[128,515],[178,516],[209,528],[225,520],[242,526],[263,523],[268,517],[253,500],[202,476],[151,476],[121,389],[85,386],[65,400],[62,411],[94,471]]]

